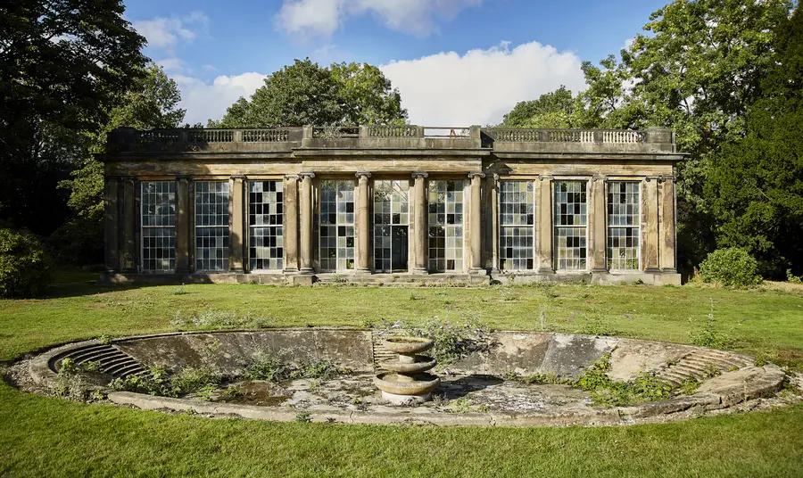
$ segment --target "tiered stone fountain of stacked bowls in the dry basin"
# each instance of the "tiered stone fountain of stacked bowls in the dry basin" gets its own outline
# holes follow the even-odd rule
[[[393,405],[414,405],[432,400],[432,391],[441,379],[424,372],[435,367],[437,361],[418,355],[432,348],[432,341],[421,337],[393,337],[385,340],[385,347],[399,356],[379,364],[379,367],[390,370],[374,377],[382,398]]]

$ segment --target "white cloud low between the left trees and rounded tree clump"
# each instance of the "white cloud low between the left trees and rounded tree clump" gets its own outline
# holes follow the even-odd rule
[[[211,84],[185,75],[171,75],[181,90],[181,108],[186,108],[185,121],[190,124],[207,119],[220,119],[226,109],[240,96],[251,97],[264,85],[265,75],[249,72],[241,75],[221,75]]]

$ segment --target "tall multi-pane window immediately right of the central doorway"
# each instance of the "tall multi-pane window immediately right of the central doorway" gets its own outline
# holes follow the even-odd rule
[[[430,272],[463,270],[463,189],[465,181],[429,182]]]

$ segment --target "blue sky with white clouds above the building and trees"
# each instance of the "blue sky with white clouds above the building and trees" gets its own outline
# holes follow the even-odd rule
[[[126,0],[186,122],[220,119],[294,59],[368,62],[411,124],[489,125],[632,41],[668,0]]]

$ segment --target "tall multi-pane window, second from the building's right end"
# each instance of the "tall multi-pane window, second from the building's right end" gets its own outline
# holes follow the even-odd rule
[[[588,204],[585,181],[555,182],[555,268],[587,267]]]

